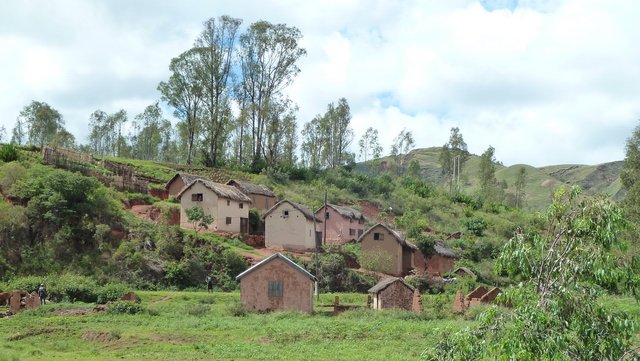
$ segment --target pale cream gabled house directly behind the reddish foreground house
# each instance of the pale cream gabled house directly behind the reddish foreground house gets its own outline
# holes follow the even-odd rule
[[[263,216],[268,248],[312,250],[322,241],[322,221],[307,207],[282,200]]]

